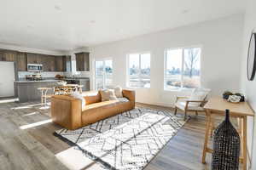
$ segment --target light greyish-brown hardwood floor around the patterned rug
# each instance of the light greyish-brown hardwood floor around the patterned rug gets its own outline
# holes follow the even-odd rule
[[[48,122],[49,110],[39,108],[38,103],[0,104],[0,169],[67,169],[55,154],[70,146],[52,134],[61,127]],[[201,164],[205,116],[191,115],[146,170],[210,169],[211,156],[206,165]]]

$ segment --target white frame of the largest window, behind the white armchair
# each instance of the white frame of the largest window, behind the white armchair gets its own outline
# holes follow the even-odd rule
[[[193,46],[186,46],[186,47],[177,47],[177,48],[166,48],[164,50],[164,91],[181,91],[182,89],[192,89],[192,88],[183,88],[183,77],[184,77],[184,49],[186,48],[200,48],[201,53],[200,53],[200,71],[201,71],[201,59],[202,59],[202,45],[193,45]],[[181,87],[180,88],[173,88],[173,89],[168,89],[166,88],[166,68],[167,68],[167,51],[169,50],[175,50],[175,49],[182,49],[182,74],[181,74]],[[200,86],[198,88],[201,88],[201,74],[200,74]]]

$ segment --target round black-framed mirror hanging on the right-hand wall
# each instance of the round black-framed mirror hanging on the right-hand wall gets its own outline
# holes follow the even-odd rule
[[[247,78],[253,81],[256,71],[256,33],[252,33],[247,52]]]

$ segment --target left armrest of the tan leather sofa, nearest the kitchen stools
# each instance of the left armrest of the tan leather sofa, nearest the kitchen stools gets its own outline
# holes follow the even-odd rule
[[[51,98],[52,121],[73,130],[82,125],[81,100],[67,95],[54,95]]]

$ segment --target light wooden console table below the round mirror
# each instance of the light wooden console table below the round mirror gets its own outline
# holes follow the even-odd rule
[[[214,128],[214,115],[225,116],[225,110],[230,110],[230,117],[236,117],[238,121],[238,133],[241,139],[241,157],[239,161],[243,164],[243,170],[247,169],[247,116],[254,116],[253,110],[247,102],[230,103],[220,97],[209,99],[207,105],[204,106],[207,111],[207,129],[205,134],[205,143],[202,153],[202,163],[206,163],[207,152],[212,153],[212,149],[208,148],[208,138]]]

